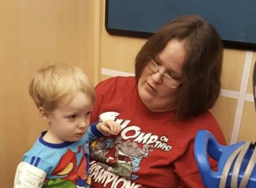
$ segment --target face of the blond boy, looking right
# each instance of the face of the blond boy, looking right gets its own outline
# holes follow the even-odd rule
[[[87,131],[92,110],[91,99],[82,91],[65,106],[60,106],[48,113],[50,136],[53,142],[77,141]]]

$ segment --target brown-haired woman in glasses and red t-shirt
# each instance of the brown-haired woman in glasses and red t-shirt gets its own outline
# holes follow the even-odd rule
[[[92,187],[204,187],[194,139],[209,130],[224,144],[208,109],[220,92],[223,49],[215,29],[198,16],[181,16],[140,49],[135,77],[96,86],[91,121],[121,124],[116,137],[92,143]],[[211,166],[216,163],[212,160]]]

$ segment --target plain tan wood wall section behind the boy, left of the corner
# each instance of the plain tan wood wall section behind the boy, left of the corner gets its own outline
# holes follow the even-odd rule
[[[100,1],[0,1],[0,182],[13,186],[21,156],[47,129],[28,95],[34,72],[56,61],[98,82]],[[96,62],[94,64],[94,62]]]

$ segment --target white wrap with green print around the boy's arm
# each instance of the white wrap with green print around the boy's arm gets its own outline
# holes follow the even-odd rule
[[[35,166],[27,163],[20,162],[15,178],[14,188],[41,188],[46,177],[46,172]]]

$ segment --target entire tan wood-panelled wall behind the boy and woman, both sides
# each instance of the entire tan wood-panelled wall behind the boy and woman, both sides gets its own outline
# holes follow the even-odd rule
[[[47,128],[28,96],[29,81],[39,67],[72,63],[94,84],[134,73],[134,58],[146,40],[109,35],[104,16],[103,0],[0,2],[0,181],[5,187],[12,187],[22,154]],[[224,90],[212,112],[228,142],[256,140],[250,98],[255,60],[255,52],[225,49]]]

